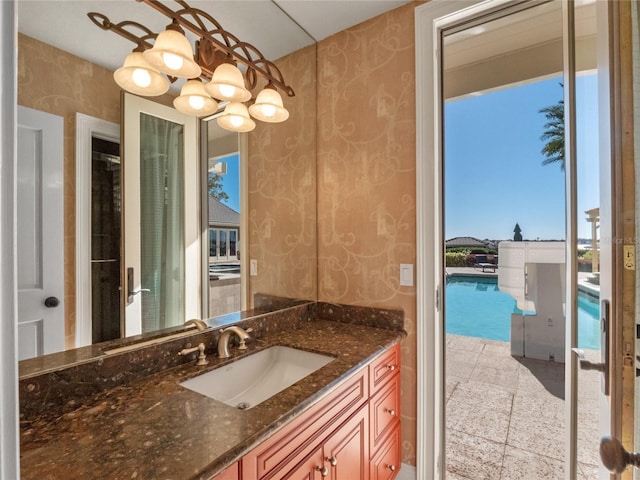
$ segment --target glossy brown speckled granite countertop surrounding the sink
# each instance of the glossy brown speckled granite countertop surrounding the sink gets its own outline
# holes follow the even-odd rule
[[[55,420],[22,422],[21,478],[208,479],[306,411],[341,380],[399,342],[402,331],[315,320],[210,355],[209,365],[185,364],[108,389]],[[336,357],[249,410],[238,410],[179,385],[234,358],[272,345]]]

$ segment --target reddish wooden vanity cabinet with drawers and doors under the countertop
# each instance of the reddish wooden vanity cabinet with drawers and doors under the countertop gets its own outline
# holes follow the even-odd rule
[[[400,350],[395,345],[245,455],[240,478],[395,478],[400,467],[399,371]]]

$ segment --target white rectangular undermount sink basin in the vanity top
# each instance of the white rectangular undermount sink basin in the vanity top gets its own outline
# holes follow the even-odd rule
[[[333,357],[269,347],[182,382],[185,388],[243,410],[263,402],[325,366]]]

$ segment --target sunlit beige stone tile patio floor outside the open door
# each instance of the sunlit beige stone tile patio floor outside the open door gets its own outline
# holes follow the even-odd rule
[[[564,364],[512,357],[507,342],[449,337],[447,358],[456,361],[447,369],[446,478],[563,478]],[[581,371],[578,385],[578,479],[591,480],[598,478],[599,374]]]

